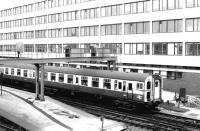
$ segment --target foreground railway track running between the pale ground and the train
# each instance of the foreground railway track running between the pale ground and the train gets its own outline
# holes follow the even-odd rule
[[[131,126],[139,126],[141,128],[146,128],[150,130],[168,130],[168,131],[199,131],[199,126],[194,126],[194,124],[186,124],[186,119],[180,119],[176,116],[172,118],[172,115],[169,117],[166,114],[162,115],[161,113],[158,114],[142,114],[142,113],[133,113],[133,112],[122,112],[116,109],[108,109],[102,108],[99,106],[88,105],[78,101],[71,101],[69,99],[61,97],[54,97],[55,99],[62,101],[66,104],[75,106],[82,110],[85,110],[91,114],[96,116],[103,116],[108,119],[120,121],[127,123]],[[180,121],[181,120],[181,121]],[[188,119],[191,120],[191,119]]]

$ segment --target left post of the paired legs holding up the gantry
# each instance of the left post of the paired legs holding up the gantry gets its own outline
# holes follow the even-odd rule
[[[35,64],[35,99],[39,100],[39,64]]]

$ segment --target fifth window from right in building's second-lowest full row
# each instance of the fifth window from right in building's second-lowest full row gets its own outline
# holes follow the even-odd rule
[[[83,26],[81,27],[81,36],[98,36],[99,26]]]

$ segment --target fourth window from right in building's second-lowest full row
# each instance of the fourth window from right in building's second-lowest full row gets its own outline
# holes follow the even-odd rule
[[[101,25],[101,35],[121,35],[122,24]]]

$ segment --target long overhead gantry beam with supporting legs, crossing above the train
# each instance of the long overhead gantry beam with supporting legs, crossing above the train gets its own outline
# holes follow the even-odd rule
[[[1,59],[0,64],[12,65],[12,63],[32,64],[35,66],[35,99],[45,101],[44,98],[44,66],[46,63],[52,62],[81,62],[81,61],[107,61],[108,70],[113,64],[113,70],[116,68],[116,57],[72,57],[72,58],[43,58],[43,59],[27,59],[27,58],[12,58]]]

